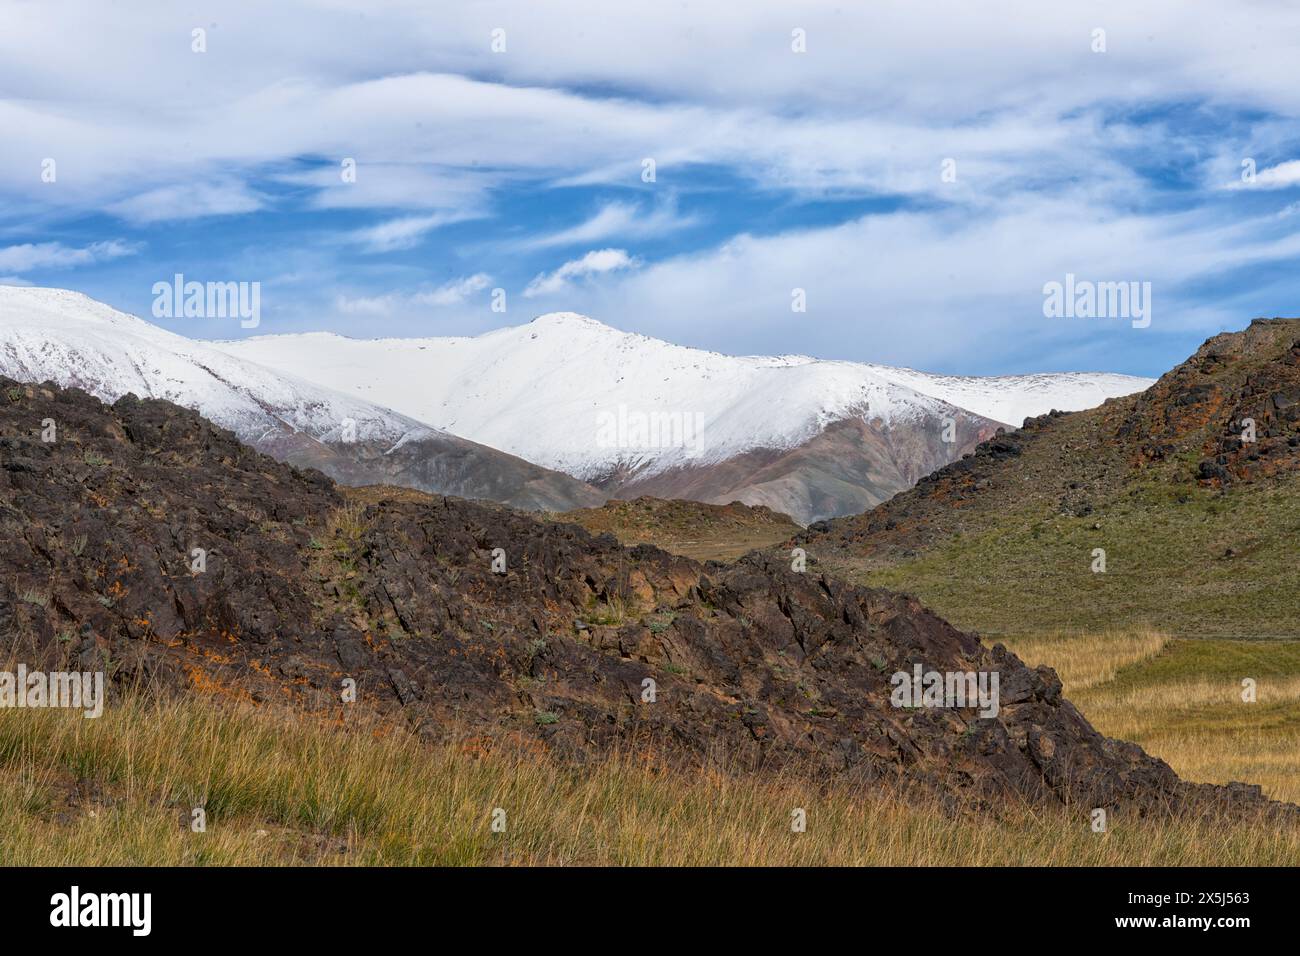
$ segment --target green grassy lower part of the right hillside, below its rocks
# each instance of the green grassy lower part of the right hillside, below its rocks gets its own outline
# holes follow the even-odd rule
[[[1149,484],[1087,518],[1041,507],[1000,514],[888,567],[841,555],[824,563],[989,635],[1124,627],[1300,639],[1297,540],[1300,480],[1228,496]],[[1092,570],[1098,548],[1104,574]]]

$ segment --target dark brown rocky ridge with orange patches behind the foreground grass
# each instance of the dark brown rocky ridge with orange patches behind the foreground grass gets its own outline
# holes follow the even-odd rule
[[[1266,806],[1102,737],[1050,669],[894,593],[760,555],[705,568],[454,498],[350,502],[164,401],[3,378],[0,398],[0,628],[29,666],[373,708],[578,761],[620,748],[976,803]],[[914,665],[996,671],[998,715],[892,706],[889,675]]]

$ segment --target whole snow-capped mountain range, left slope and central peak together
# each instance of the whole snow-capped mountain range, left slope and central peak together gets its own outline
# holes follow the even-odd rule
[[[198,342],[14,286],[0,286],[0,375],[169,399],[347,484],[556,511],[611,494],[744,501],[805,523],[875,506],[1001,424],[1150,384],[722,355],[573,313],[472,338]]]

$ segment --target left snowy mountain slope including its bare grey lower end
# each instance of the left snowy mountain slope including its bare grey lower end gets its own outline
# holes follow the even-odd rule
[[[387,481],[530,509],[592,506],[595,489],[465,438],[160,329],[78,293],[0,286],[0,373],[114,401],[202,411],[254,447],[350,483]]]

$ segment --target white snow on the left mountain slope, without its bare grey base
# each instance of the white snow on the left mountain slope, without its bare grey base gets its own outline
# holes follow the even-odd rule
[[[75,385],[105,402],[127,392],[165,398],[250,442],[283,428],[332,441],[344,421],[355,423],[358,441],[395,444],[429,431],[62,289],[0,286],[0,373]]]

